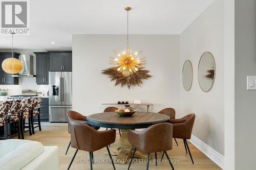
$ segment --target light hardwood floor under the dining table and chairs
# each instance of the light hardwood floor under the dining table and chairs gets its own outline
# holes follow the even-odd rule
[[[66,149],[68,147],[70,141],[70,135],[67,130],[66,123],[42,123],[42,131],[38,131],[38,128],[35,131],[35,134],[29,136],[28,133],[25,134],[25,139],[27,140],[36,140],[40,141],[43,145],[57,145],[58,146],[58,153],[59,153],[59,169],[67,169],[69,163],[73,157],[75,149],[70,148],[67,155],[65,155]],[[117,131],[118,132],[118,131]],[[194,145],[188,142],[191,154],[194,158],[195,164],[193,165],[190,161],[189,154],[186,154],[183,140],[177,139],[179,146],[176,145],[175,141],[173,141],[173,150],[168,151],[168,155],[170,159],[179,160],[179,163],[173,163],[174,168],[178,170],[193,170],[193,169],[202,169],[202,170],[214,170],[214,169],[221,169],[218,165],[212,162],[208,157],[206,157],[203,153],[201,153]],[[116,134],[116,142],[111,144],[110,150],[118,147],[119,145],[119,134]],[[94,159],[109,159],[109,155],[105,155],[106,148],[103,148],[99,151],[94,152]],[[154,158],[154,155],[152,155]],[[158,159],[161,158],[161,153],[157,154]],[[113,156],[115,159],[116,156]],[[85,160],[89,160],[89,153],[85,151],[78,151],[74,162],[70,169],[90,169],[90,163],[86,162]],[[164,159],[166,157],[164,156]],[[79,163],[78,161],[82,162]],[[127,169],[128,164],[116,164],[116,169],[124,170]],[[137,162],[132,163],[130,169],[145,169],[146,163],[144,162]],[[112,164],[110,162],[95,162],[93,164],[93,169],[97,170],[109,170],[113,169]],[[150,163],[150,168],[152,170],[156,169],[171,169],[168,162],[158,163],[158,166],[154,162]]]

